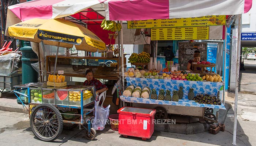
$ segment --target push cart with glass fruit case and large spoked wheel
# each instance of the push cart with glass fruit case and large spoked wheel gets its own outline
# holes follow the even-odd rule
[[[15,95],[28,97],[30,126],[42,141],[58,138],[63,128],[79,125],[86,129],[85,137],[93,140],[96,130],[91,128],[94,118],[95,87],[66,85],[48,86],[46,82],[15,86]],[[22,91],[27,90],[27,94]]]

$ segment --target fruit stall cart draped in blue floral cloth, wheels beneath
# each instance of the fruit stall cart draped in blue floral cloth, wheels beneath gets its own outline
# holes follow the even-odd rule
[[[155,89],[158,97],[153,97],[153,92],[149,97],[132,97],[120,96],[124,102],[132,103],[133,107],[152,108],[156,109],[155,119],[166,119],[167,114],[188,115],[204,119],[207,123],[218,123],[218,109],[226,110],[225,106],[218,99],[218,91],[223,85],[223,82],[208,82],[208,81],[182,81],[182,80],[164,80],[164,79],[151,79],[151,78],[126,78],[127,87],[134,86],[143,88]],[[170,91],[178,91],[183,88],[183,98],[178,101],[159,100],[161,89]],[[188,99],[189,89],[193,88],[194,95],[192,100]],[[134,89],[133,93],[136,92]],[[140,95],[143,95],[142,91]],[[123,92],[125,93],[125,92]],[[124,95],[124,94],[123,94]],[[133,96],[135,95],[132,94]],[[198,95],[198,96],[196,96]],[[200,98],[204,102],[197,101],[195,98]],[[201,99],[202,98],[202,99]],[[211,103],[211,98],[213,103]],[[207,100],[207,101],[205,101]],[[208,101],[209,100],[209,101]],[[208,104],[209,102],[209,104]],[[214,103],[215,102],[215,103]],[[215,110],[214,110],[215,109]],[[216,111],[216,114],[214,113]]]

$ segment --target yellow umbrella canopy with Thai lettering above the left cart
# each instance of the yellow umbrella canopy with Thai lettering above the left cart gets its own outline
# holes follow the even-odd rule
[[[46,45],[96,52],[105,50],[105,43],[87,28],[64,19],[30,19],[9,26],[6,36]]]

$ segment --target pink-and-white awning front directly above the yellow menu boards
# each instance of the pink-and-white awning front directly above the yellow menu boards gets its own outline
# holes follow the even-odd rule
[[[146,20],[243,14],[252,0],[109,0],[104,5],[106,20]]]

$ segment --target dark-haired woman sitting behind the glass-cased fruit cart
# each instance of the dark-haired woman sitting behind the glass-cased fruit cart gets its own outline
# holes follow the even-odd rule
[[[84,86],[95,86],[95,90],[99,94],[108,90],[108,87],[106,87],[106,85],[102,84],[101,81],[93,77],[93,70],[86,70],[85,77],[87,78],[87,80],[83,82]]]

